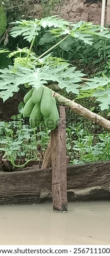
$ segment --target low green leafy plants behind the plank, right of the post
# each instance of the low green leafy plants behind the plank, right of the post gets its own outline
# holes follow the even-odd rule
[[[93,135],[81,123],[67,127],[67,152],[70,163],[108,161],[110,134]]]

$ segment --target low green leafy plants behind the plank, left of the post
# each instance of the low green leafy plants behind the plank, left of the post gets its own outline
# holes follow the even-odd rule
[[[24,160],[24,164],[18,164],[18,167],[24,167],[31,160],[42,160],[44,151],[49,141],[49,132],[47,129],[39,131],[30,129],[29,124],[25,124],[22,117],[22,108],[17,116],[7,123],[0,121],[0,151],[2,157],[10,161],[13,167],[16,166],[16,159]]]

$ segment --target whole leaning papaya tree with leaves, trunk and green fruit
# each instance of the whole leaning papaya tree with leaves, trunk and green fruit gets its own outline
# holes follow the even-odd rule
[[[23,36],[23,39],[30,43],[30,47],[17,48],[9,54],[13,58],[14,65],[1,69],[0,90],[1,97],[5,102],[15,92],[18,92],[21,84],[29,88],[29,92],[24,97],[24,117],[30,116],[30,125],[37,126],[43,121],[47,125],[48,117],[54,118],[54,123],[50,129],[57,126],[58,113],[56,101],[71,108],[74,112],[83,115],[85,118],[93,120],[95,123],[110,129],[110,121],[95,114],[89,109],[82,107],[74,100],[69,100],[53,89],[49,88],[50,83],[61,90],[72,92],[74,99],[77,97],[94,97],[100,102],[101,110],[108,109],[110,105],[110,78],[101,76],[87,78],[86,74],[76,70],[67,60],[57,58],[53,55],[53,50],[61,44],[72,44],[74,39],[81,40],[85,45],[93,45],[94,37],[101,40],[110,38],[109,29],[101,29],[98,25],[90,22],[78,22],[76,24],[59,19],[57,16],[45,17],[41,20],[20,20],[12,22],[13,28],[10,35],[14,38]],[[42,33],[43,31],[43,33]],[[40,56],[34,52],[34,46],[43,42],[54,42],[53,46],[44,51]],[[75,96],[76,95],[76,96]],[[54,98],[54,100],[53,100]],[[51,109],[54,106],[54,110]],[[33,111],[34,109],[34,111]],[[55,115],[54,115],[55,113]],[[35,120],[38,116],[37,120]],[[34,119],[31,123],[31,120]],[[48,126],[48,125],[47,125]]]

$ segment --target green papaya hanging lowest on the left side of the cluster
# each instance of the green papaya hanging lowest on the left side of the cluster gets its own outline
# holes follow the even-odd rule
[[[31,111],[29,123],[32,128],[35,128],[41,124],[42,121],[42,113],[40,109],[40,102],[34,105],[33,110]]]

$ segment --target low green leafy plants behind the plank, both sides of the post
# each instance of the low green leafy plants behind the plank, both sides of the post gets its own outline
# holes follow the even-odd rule
[[[109,133],[93,135],[80,123],[67,127],[66,133],[70,164],[109,160]],[[9,123],[1,121],[0,134],[2,157],[8,159],[13,167],[24,167],[31,160],[42,160],[50,138],[50,130],[41,126],[40,130],[30,129],[24,123],[22,113],[13,116]],[[19,160],[18,165],[16,159]],[[21,160],[24,160],[22,165]]]

